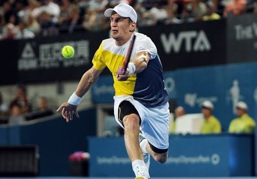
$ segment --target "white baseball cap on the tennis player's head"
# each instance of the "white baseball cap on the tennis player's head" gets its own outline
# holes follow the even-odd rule
[[[106,9],[106,11],[104,12],[104,16],[111,17],[113,11],[117,12],[117,14],[119,14],[122,17],[130,17],[131,20],[135,23],[137,22],[137,13],[133,9],[133,7],[131,7],[128,4],[118,4],[113,9]]]

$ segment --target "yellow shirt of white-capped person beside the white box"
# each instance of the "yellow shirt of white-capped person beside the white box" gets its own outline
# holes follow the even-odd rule
[[[218,119],[211,115],[208,119],[204,120],[203,125],[201,126],[201,134],[211,134],[211,133],[221,133],[222,125],[219,123]]]

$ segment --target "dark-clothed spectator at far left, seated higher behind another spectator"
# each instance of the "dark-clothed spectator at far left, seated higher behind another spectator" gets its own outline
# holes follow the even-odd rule
[[[17,87],[16,97],[11,101],[9,109],[12,109],[13,106],[21,107],[21,114],[26,114],[31,112],[32,104],[27,98],[27,90],[23,85]]]

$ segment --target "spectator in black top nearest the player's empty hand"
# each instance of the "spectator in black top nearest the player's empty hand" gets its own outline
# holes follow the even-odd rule
[[[26,120],[34,120],[36,118],[41,118],[54,114],[48,107],[48,102],[46,97],[40,97],[38,100],[38,109],[26,115]]]

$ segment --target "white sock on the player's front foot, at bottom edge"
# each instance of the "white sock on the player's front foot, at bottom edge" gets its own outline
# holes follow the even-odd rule
[[[132,162],[132,168],[136,176],[143,176],[150,178],[148,168],[142,160],[135,160]]]

